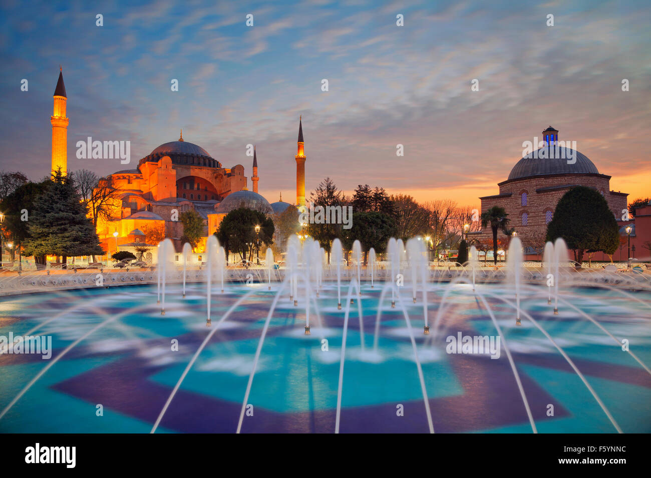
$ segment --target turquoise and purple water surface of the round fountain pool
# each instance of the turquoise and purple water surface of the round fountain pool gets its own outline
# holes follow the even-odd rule
[[[0,355],[0,431],[334,432],[341,378],[340,432],[651,432],[651,292],[561,289],[554,315],[547,287],[522,284],[516,326],[505,284],[430,283],[426,304],[398,287],[392,308],[391,287],[362,282],[358,301],[349,278],[340,299],[336,281],[310,296],[306,335],[302,286],[294,306],[263,279],[224,293],[214,281],[210,327],[205,283],[185,298],[167,284],[165,315],[156,285],[1,298],[0,337],[51,336],[53,351]],[[496,324],[497,360],[447,352],[448,337],[499,336]]]

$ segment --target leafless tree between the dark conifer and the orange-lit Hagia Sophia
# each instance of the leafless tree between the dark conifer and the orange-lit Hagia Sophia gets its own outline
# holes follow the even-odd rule
[[[98,178],[94,172],[87,169],[77,170],[73,174],[77,191],[92,218],[92,225],[97,230],[99,219],[112,219],[111,212],[116,204],[119,204],[122,192],[113,186],[112,179]]]

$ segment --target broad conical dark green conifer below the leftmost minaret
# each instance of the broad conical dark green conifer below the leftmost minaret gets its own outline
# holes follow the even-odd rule
[[[95,228],[86,216],[86,207],[77,193],[74,176],[64,176],[57,170],[34,203],[29,218],[29,239],[25,254],[35,256],[43,266],[48,254],[63,257],[104,254]]]

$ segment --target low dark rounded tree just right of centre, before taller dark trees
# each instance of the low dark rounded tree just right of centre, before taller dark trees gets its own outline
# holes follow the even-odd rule
[[[353,213],[352,228],[344,231],[342,244],[350,250],[355,240],[359,241],[364,251],[364,263],[367,263],[370,248],[378,253],[384,252],[395,233],[396,224],[389,215],[373,211]]]

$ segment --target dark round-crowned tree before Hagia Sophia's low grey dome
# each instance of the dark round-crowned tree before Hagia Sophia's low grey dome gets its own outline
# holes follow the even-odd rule
[[[258,234],[255,226],[260,226]],[[273,244],[274,230],[273,220],[264,213],[239,207],[226,215],[215,235],[225,250],[238,252],[242,260],[247,259],[247,256],[251,260],[256,241],[259,241],[259,246]]]

